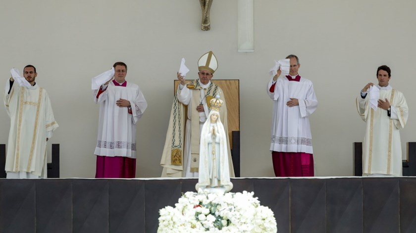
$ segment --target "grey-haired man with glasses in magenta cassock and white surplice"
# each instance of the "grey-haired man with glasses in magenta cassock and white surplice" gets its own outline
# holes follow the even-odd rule
[[[318,101],[312,82],[298,73],[301,64],[289,55],[289,75],[277,74],[270,79],[267,93],[274,101],[271,127],[273,169],[276,177],[314,176],[312,133],[309,116]]]

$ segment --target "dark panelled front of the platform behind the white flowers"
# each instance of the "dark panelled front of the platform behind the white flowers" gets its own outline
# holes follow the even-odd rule
[[[0,179],[1,233],[156,233],[159,209],[197,179]],[[416,178],[244,178],[279,232],[413,233]]]

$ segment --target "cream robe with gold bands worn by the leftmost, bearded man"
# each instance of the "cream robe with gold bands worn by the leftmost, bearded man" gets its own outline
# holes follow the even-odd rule
[[[6,172],[26,172],[47,177],[47,138],[58,128],[51,100],[45,89],[37,84],[29,88],[10,81],[4,89],[4,106],[10,117],[6,154]],[[28,176],[33,177],[33,176]]]

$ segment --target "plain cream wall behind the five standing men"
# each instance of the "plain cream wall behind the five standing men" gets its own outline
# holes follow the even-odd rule
[[[316,175],[350,176],[352,144],[364,136],[355,97],[376,82],[377,66],[391,67],[390,83],[410,107],[403,153],[406,141],[416,141],[415,8],[409,0],[255,0],[255,52],[238,53],[236,0],[213,2],[208,32],[200,30],[198,0],[3,1],[1,83],[12,67],[37,67],[37,83],[50,94],[60,126],[48,144],[60,144],[61,177],[92,178],[99,108],[91,78],[126,62],[127,80],[141,87],[149,104],[137,125],[137,177],[158,177],[180,59],[196,78],[197,59],[213,50],[214,79],[240,79],[241,175],[273,176],[272,101],[265,86],[273,59],[294,53],[319,100],[311,116]],[[0,122],[0,143],[7,143],[4,108]]]

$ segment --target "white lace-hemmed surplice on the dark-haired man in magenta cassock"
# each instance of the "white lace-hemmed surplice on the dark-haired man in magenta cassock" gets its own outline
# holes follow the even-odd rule
[[[98,96],[99,90],[94,91],[94,100],[100,104],[96,155],[136,158],[136,123],[145,112],[147,102],[139,86],[125,84],[123,87],[112,81]],[[120,98],[130,101],[131,113],[127,107],[116,105]]]

